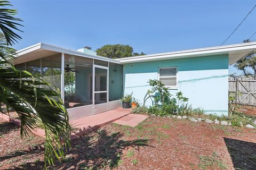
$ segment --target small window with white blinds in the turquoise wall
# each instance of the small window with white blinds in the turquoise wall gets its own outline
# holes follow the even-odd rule
[[[177,88],[177,67],[159,68],[158,79],[164,83],[166,87]]]

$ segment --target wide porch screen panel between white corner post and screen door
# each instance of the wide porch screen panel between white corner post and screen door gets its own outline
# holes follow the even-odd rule
[[[66,108],[92,104],[92,59],[65,54]]]

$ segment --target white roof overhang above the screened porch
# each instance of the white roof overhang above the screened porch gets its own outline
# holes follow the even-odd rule
[[[16,57],[16,60],[14,60],[13,62],[14,64],[29,62],[29,61],[37,60],[39,58],[58,54],[58,53],[76,55],[76,56],[111,62],[111,63],[117,63],[117,64],[120,63],[118,60],[114,60],[111,58],[101,57],[96,55],[89,55],[83,52],[78,52],[76,50],[53,46],[45,43],[38,43],[33,46],[23,48],[21,50],[18,50],[16,53],[17,53],[17,57]]]

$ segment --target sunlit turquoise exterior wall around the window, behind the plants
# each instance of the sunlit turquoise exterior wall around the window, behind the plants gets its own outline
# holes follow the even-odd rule
[[[178,67],[178,89],[189,98],[193,108],[202,107],[206,113],[228,114],[228,54],[178,60],[124,64],[124,93],[143,103],[149,79],[158,79],[159,67]],[[148,100],[146,103],[150,106]]]

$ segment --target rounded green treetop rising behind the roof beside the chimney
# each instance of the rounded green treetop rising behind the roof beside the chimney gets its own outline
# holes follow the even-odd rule
[[[96,49],[97,55],[108,58],[124,58],[138,55],[146,55],[144,53],[133,53],[133,48],[129,45],[114,44],[105,45]]]

